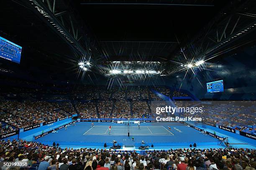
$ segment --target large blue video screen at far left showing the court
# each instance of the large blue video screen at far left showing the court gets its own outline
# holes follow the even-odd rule
[[[20,63],[21,49],[19,45],[0,37],[0,58]]]

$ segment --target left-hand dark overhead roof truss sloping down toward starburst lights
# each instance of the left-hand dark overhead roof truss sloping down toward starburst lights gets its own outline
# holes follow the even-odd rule
[[[82,20],[77,20],[77,16],[70,12],[69,6],[63,0],[23,0],[29,3],[37,15],[51,26],[68,44],[81,56],[92,53],[91,50],[98,51],[91,41],[94,37],[88,37],[89,32],[84,32],[86,26]],[[90,58],[90,61],[94,60]]]

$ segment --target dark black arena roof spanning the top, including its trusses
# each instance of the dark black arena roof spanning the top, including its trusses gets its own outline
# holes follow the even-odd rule
[[[154,67],[160,62],[157,70],[172,75],[189,62],[216,61],[255,34],[253,0],[12,0],[1,5],[0,34],[24,47],[21,67],[56,77],[76,77],[70,75],[85,70],[80,62],[90,63],[88,74],[105,75],[102,67],[114,61]]]

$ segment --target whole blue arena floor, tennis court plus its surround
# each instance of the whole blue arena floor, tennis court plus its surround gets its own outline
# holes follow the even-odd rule
[[[197,143],[197,146],[219,147],[220,141],[212,138],[210,135],[203,135],[194,128],[184,126],[182,123],[141,123],[140,129],[135,124],[129,127],[130,137],[128,137],[128,127],[125,124],[112,122],[95,122],[95,127],[91,127],[91,122],[77,122],[75,126],[68,126],[67,130],[62,128],[58,133],[50,133],[36,141],[51,145],[53,142],[61,146],[83,146],[94,148],[102,147],[104,143],[112,146],[113,140],[118,141],[121,146],[135,147],[140,146],[143,140],[146,145],[154,145],[154,148],[160,147],[188,147],[190,144]],[[111,125],[111,133],[108,132],[108,126]],[[169,130],[169,128],[171,130]],[[132,141],[134,136],[134,141]]]

